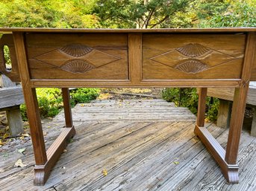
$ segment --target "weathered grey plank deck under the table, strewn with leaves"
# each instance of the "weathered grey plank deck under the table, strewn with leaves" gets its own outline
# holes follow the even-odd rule
[[[229,185],[193,134],[196,117],[187,109],[163,100],[103,100],[72,111],[77,134],[46,185],[33,186],[31,142],[16,140],[0,148],[0,190],[256,190],[256,139],[248,132],[240,142],[240,184]],[[63,120],[60,113],[43,124],[47,147]],[[207,129],[225,146],[227,129]],[[28,166],[14,167],[18,159]]]

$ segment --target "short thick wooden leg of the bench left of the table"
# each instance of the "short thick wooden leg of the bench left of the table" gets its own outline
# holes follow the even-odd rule
[[[6,110],[8,126],[10,135],[16,137],[24,132],[22,123],[22,114],[20,113],[19,106],[12,107]]]

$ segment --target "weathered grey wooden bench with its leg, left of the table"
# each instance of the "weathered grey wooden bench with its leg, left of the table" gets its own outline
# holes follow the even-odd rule
[[[23,132],[20,104],[24,103],[22,87],[16,86],[5,75],[0,76],[0,111],[6,111],[10,135],[15,137]]]

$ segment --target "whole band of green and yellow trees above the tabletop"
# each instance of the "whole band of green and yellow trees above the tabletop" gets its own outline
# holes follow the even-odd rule
[[[0,27],[256,27],[255,0],[1,0]]]

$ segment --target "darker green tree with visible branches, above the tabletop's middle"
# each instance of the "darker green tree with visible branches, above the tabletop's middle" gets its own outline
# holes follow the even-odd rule
[[[104,27],[186,27],[179,22],[189,11],[191,0],[99,0],[94,13]],[[183,17],[184,18],[184,17]],[[179,25],[177,25],[177,23]]]

